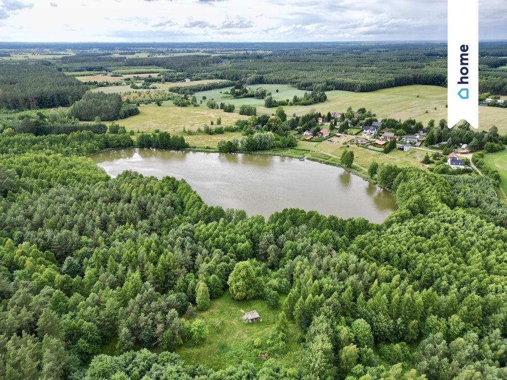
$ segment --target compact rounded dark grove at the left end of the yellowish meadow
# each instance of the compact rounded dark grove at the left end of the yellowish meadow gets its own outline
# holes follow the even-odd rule
[[[139,108],[135,104],[123,102],[120,94],[87,92],[70,111],[79,120],[92,121],[98,117],[100,120],[113,121],[137,115]]]

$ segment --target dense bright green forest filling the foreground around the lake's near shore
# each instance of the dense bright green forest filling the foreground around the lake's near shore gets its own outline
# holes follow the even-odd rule
[[[265,220],[83,157],[132,144],[0,135],[0,378],[507,378],[507,208],[491,179],[380,165],[399,206],[381,224],[299,209]],[[265,344],[283,354],[296,329],[299,366],[172,353],[206,339],[196,309],[226,291],[281,300]],[[121,355],[102,353],[112,338]]]

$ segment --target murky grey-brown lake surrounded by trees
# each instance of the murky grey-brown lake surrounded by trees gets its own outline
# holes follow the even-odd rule
[[[184,178],[208,205],[266,218],[284,208],[301,208],[379,223],[396,209],[390,192],[359,176],[288,157],[130,148],[91,159],[113,177],[130,169]]]

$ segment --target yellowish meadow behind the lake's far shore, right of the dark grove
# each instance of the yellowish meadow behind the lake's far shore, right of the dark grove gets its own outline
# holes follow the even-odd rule
[[[125,86],[124,86],[125,87]],[[127,131],[154,132],[159,129],[161,132],[169,132],[171,135],[183,135],[185,140],[192,146],[216,147],[220,140],[229,140],[233,137],[241,137],[240,132],[226,132],[218,135],[206,135],[194,133],[189,135],[183,128],[197,131],[197,128],[204,124],[211,128],[216,127],[216,119],[222,118],[222,127],[232,126],[238,119],[248,118],[237,113],[224,112],[221,109],[209,109],[201,107],[176,107],[170,101],[162,103],[162,106],[155,104],[141,105],[139,115],[120,120],[118,123],[125,126]],[[214,125],[211,126],[211,121]]]

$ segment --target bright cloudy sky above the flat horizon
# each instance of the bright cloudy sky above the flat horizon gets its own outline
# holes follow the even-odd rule
[[[507,1],[480,9],[480,39],[507,40]],[[0,0],[0,41],[446,40],[446,18],[443,0]]]

